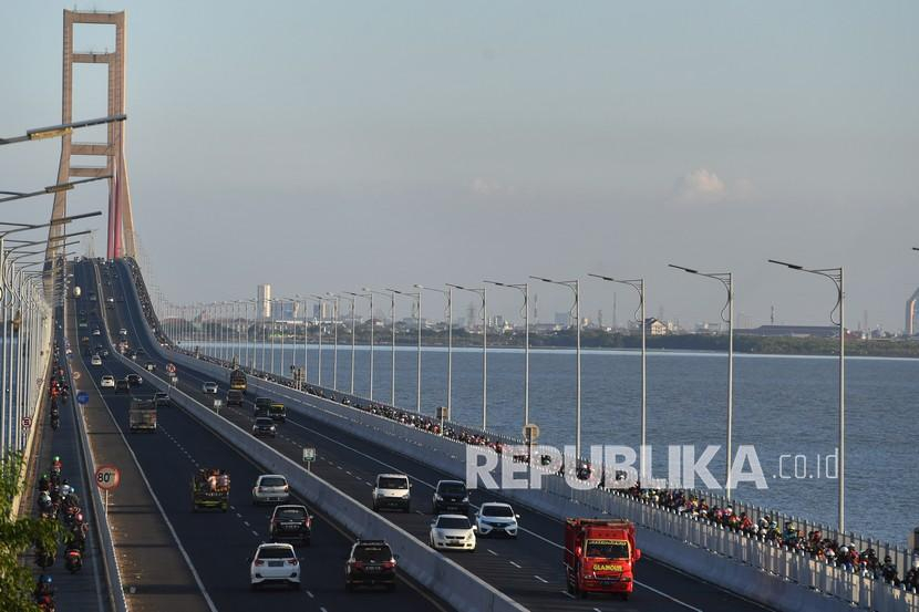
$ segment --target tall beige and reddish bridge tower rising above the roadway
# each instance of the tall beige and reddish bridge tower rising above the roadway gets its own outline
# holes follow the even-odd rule
[[[64,10],[64,58],[63,58],[63,96],[62,123],[73,121],[73,65],[106,64],[109,68],[109,115],[125,112],[125,11],[69,11]],[[115,50],[113,52],[74,52],[73,27],[81,23],[101,23],[115,27]],[[127,162],[124,158],[125,122],[107,125],[105,143],[74,143],[71,134],[61,137],[61,164],[58,169],[58,183],[66,183],[74,177],[97,177],[111,175],[109,179],[109,259],[116,257],[135,257],[134,216],[131,210],[131,189],[127,180]],[[73,166],[72,155],[97,155],[105,158],[102,166]],[[51,219],[68,215],[68,193],[54,194]],[[48,231],[49,238],[62,236],[63,225],[53,225]],[[62,251],[61,241],[49,242],[47,257]]]

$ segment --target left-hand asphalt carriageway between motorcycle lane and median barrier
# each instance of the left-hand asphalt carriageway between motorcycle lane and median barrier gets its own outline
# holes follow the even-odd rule
[[[87,288],[93,288],[96,284],[93,280],[94,272],[93,263],[78,263],[75,284],[84,288],[84,292]],[[117,288],[118,281],[115,280],[112,287],[103,282],[96,289],[100,309],[106,313],[112,338],[117,338],[121,328],[127,328],[131,330],[130,341],[136,346],[137,334],[133,330],[130,313],[136,311],[137,304],[115,302],[112,304],[115,308],[109,309],[103,301]],[[121,298],[121,294],[115,298]],[[103,345],[109,345],[105,333],[102,336],[91,336],[92,341],[100,338],[104,340]],[[76,339],[72,339],[72,342],[79,346]],[[114,351],[111,345],[109,350]],[[151,348],[147,351],[152,352]],[[127,366],[115,356],[103,360],[101,366],[90,366],[90,359],[82,352],[80,359],[89,369],[93,384],[130,444],[143,477],[172,526],[178,546],[187,557],[190,571],[211,610],[251,611],[265,605],[318,612],[447,609],[406,581],[400,581],[394,593],[345,593],[344,560],[352,538],[340,531],[327,517],[314,511],[312,543],[298,549],[302,558],[302,590],[250,591],[248,559],[259,543],[267,541],[271,512],[270,507],[255,507],[251,504],[251,487],[262,470],[177,407],[158,411],[156,433],[128,433],[127,407],[131,395],[117,394],[111,388],[99,390],[99,381],[104,374],[112,374],[116,380],[123,378],[130,373]],[[149,396],[153,392],[154,388],[145,383],[133,390],[132,395]],[[230,508],[226,514],[192,511],[190,478],[197,468],[208,466],[226,469],[230,474]]]

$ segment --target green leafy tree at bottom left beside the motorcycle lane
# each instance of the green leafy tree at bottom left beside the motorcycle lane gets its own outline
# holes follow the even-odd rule
[[[0,458],[0,610],[9,612],[39,610],[32,599],[35,579],[21,558],[35,542],[48,549],[56,547],[61,532],[58,521],[12,518],[13,498],[24,486],[22,464],[20,453]]]

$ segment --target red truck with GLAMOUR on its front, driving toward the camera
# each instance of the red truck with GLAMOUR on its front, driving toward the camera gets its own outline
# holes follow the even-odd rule
[[[567,519],[565,573],[568,592],[619,593],[624,601],[634,588],[636,527],[626,519]]]

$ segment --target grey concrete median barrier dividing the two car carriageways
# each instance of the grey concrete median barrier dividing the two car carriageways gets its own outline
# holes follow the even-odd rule
[[[147,374],[133,361],[117,355],[132,370]],[[155,387],[166,391],[171,400],[204,426],[245,454],[268,473],[283,474],[293,490],[358,538],[384,539],[399,556],[399,566],[421,585],[457,610],[469,612],[524,612],[518,604],[487,582],[463,569],[453,560],[428,548],[411,533],[339,489],[307,471],[248,432],[199,404],[195,398],[165,381],[147,376]]]

